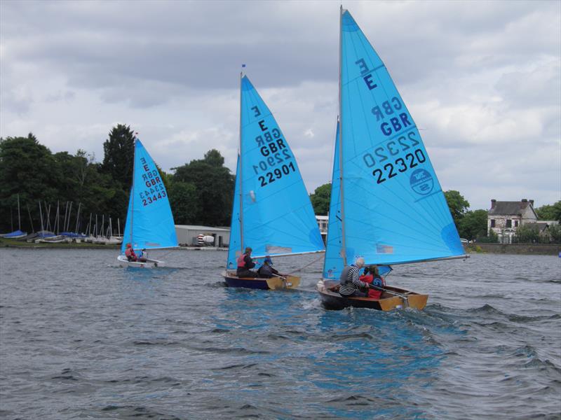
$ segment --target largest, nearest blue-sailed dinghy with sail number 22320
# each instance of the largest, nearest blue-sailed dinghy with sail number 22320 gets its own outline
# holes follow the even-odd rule
[[[378,265],[466,258],[421,135],[396,85],[341,8],[339,124],[323,279],[325,307],[423,309],[428,295],[386,287],[379,300],[344,298],[338,280],[358,257]]]

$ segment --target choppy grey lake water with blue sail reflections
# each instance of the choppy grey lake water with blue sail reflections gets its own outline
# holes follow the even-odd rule
[[[276,261],[307,265],[289,292],[224,287],[219,251],[115,258],[0,249],[1,418],[561,417],[560,258],[396,267],[430,297],[389,313],[325,311],[315,255]]]

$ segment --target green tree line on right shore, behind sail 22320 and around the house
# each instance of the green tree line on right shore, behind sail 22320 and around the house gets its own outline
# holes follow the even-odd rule
[[[487,233],[487,210],[468,210],[470,204],[463,195],[456,190],[445,191],[446,202],[450,209],[450,214],[454,219],[456,228],[461,238],[475,240],[477,242],[496,242],[498,240],[493,232]],[[319,186],[310,195],[313,210],[316,214],[327,215],[329,211],[331,196],[331,184],[325,183]],[[561,201],[555,204],[546,204],[535,209],[538,220],[542,221],[561,221]],[[520,230],[520,232],[518,232]],[[536,226],[524,225],[517,230],[517,240],[538,242],[544,241],[543,235],[540,237],[536,232]],[[550,226],[550,238],[559,242],[561,237],[558,225]]]

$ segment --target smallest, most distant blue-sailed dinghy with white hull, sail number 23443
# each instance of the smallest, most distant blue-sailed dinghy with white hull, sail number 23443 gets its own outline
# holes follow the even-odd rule
[[[154,160],[140,139],[135,139],[133,185],[130,188],[121,255],[117,260],[123,267],[154,268],[164,265],[163,261],[150,258],[128,260],[125,255],[128,244],[135,253],[145,250],[144,256],[151,249],[178,246],[168,192]]]

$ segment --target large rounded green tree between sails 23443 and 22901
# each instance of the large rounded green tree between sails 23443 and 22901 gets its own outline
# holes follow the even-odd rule
[[[192,209],[194,220],[211,226],[230,224],[234,176],[224,167],[224,158],[212,149],[202,160],[191,160],[189,164],[173,168],[173,183],[183,182],[195,186],[196,209]],[[177,203],[176,203],[177,206]]]

